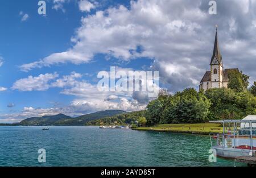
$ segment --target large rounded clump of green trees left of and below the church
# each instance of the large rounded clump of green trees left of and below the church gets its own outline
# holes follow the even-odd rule
[[[203,92],[184,89],[174,96],[158,97],[147,106],[148,125],[162,123],[200,123],[208,120],[210,101]]]

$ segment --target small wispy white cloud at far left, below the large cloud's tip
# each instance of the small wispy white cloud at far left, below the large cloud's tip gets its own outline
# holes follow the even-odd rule
[[[11,89],[19,91],[44,91],[49,88],[49,81],[58,76],[57,73],[40,74],[38,77],[28,76],[14,82]]]

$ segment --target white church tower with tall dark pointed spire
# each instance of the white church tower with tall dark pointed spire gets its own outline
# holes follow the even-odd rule
[[[218,47],[218,34],[216,27],[215,42],[212,54],[212,60],[210,60],[210,88],[221,88],[223,78],[223,64],[220,48]]]

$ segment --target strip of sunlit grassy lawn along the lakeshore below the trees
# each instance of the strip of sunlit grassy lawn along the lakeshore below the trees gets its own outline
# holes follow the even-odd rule
[[[173,131],[180,133],[222,133],[222,126],[219,123],[194,123],[194,124],[164,124],[155,127],[139,127],[135,130],[151,130],[151,131]]]

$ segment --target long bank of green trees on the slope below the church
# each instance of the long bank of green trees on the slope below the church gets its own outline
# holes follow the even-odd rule
[[[147,125],[165,123],[203,123],[219,119],[242,119],[256,114],[256,82],[250,89],[249,76],[241,72],[229,73],[228,88],[213,88],[197,92],[186,88],[182,92],[159,93],[147,105]]]

